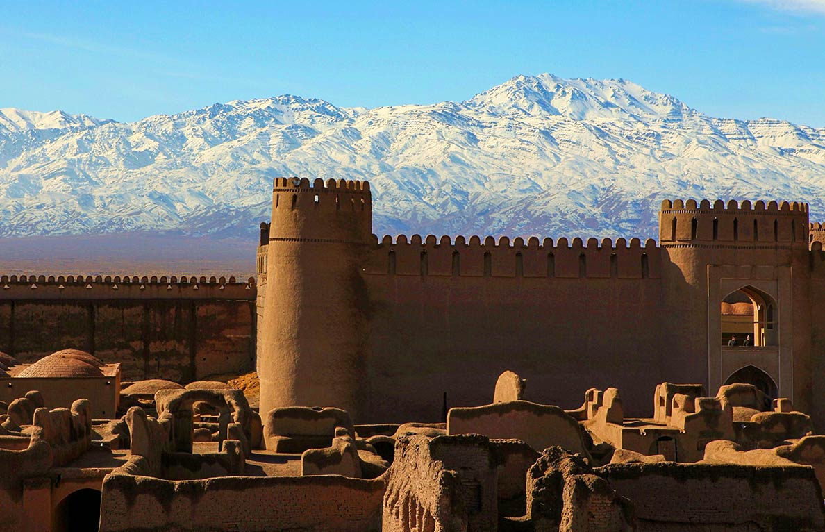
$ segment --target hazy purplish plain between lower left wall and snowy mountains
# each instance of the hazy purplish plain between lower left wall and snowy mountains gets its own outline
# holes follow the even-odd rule
[[[3,275],[255,275],[256,238],[117,233],[0,238]]]

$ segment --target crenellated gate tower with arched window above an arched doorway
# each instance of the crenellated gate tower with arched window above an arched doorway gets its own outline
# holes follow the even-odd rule
[[[808,290],[808,205],[786,201],[665,200],[659,242],[672,356],[687,361],[691,378],[719,385],[744,382],[742,371],[766,375],[771,393],[805,410],[811,397]],[[747,350],[727,344],[728,298],[752,303]],[[744,336],[739,337],[742,341]],[[673,378],[668,375],[668,378]],[[768,379],[769,378],[769,379]]]

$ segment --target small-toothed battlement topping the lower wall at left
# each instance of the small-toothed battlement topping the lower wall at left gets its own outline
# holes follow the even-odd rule
[[[255,299],[256,281],[211,275],[2,275],[0,299]]]

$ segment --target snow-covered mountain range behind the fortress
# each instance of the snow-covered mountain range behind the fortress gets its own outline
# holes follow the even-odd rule
[[[551,74],[425,106],[281,96],[130,124],[0,109],[0,236],[252,234],[279,176],[369,180],[378,234],[655,238],[665,198],[804,200],[825,219],[825,129]]]

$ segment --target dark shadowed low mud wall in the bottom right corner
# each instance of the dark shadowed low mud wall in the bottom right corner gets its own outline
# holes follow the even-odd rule
[[[597,469],[627,497],[639,530],[825,530],[812,468],[612,464]]]

